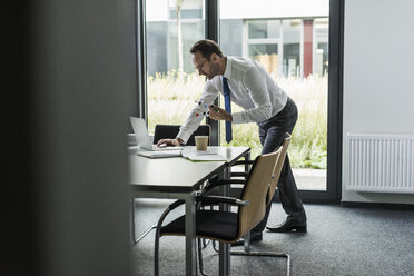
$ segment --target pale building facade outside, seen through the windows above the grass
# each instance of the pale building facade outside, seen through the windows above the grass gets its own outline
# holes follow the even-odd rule
[[[180,7],[183,71],[194,72],[189,49],[203,39],[203,0]],[[226,55],[250,57],[275,77],[323,76],[328,69],[327,0],[220,1],[220,47]],[[237,7],[237,8],[235,8]],[[177,1],[147,1],[148,73],[179,68]]]

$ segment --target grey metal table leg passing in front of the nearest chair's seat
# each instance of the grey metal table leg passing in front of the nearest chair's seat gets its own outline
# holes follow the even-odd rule
[[[185,195],[186,201],[186,275],[197,275],[196,197]]]

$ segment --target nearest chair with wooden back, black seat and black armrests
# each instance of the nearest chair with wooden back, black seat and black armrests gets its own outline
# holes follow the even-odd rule
[[[272,181],[274,168],[280,150],[258,156],[252,165],[240,198],[200,195],[196,197],[197,203],[203,206],[218,206],[229,204],[237,206],[237,211],[217,209],[196,210],[196,237],[217,240],[219,243],[233,244],[248,234],[266,213],[267,194]],[[226,183],[226,180],[223,180]],[[220,184],[220,181],[218,181]],[[167,215],[183,200],[171,204],[159,218],[155,240],[155,275],[159,274],[159,239],[161,236],[185,236],[185,216],[170,221],[166,226],[162,223]],[[200,250],[198,250],[200,253]],[[199,255],[201,256],[201,255]],[[201,262],[203,258],[199,258]]]

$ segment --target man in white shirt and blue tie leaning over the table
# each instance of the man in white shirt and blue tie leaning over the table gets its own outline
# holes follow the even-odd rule
[[[201,115],[209,112],[211,119],[226,121],[227,132],[230,132],[227,130],[227,127],[230,128],[230,124],[256,122],[259,127],[262,154],[275,151],[282,145],[284,135],[292,134],[295,127],[297,120],[295,102],[256,60],[224,56],[219,46],[211,40],[196,42],[190,49],[190,53],[195,68],[208,80],[198,105],[181,125],[177,137],[161,139],[158,144],[175,146],[185,144],[201,122],[204,118]],[[226,97],[229,97],[244,111],[231,114],[213,105],[219,93],[224,95],[225,105],[227,105]],[[228,135],[226,134],[226,139],[229,142],[231,136]],[[306,214],[287,155],[277,187],[282,206],[288,216],[279,226],[267,227],[267,229],[278,233],[306,231]],[[262,240],[262,233],[266,227],[270,206],[268,206],[263,221],[250,233],[253,243]],[[243,241],[237,243],[237,245],[241,244]]]

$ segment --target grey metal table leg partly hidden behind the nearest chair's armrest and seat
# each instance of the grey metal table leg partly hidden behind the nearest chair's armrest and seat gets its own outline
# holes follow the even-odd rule
[[[230,169],[226,168],[219,177],[220,179],[229,179]],[[221,195],[228,196],[230,194],[229,185],[221,185],[220,191]],[[220,205],[220,210],[229,210],[229,206]],[[230,275],[230,248],[228,244],[223,243],[219,245],[219,275]]]

